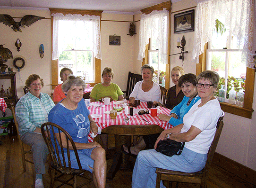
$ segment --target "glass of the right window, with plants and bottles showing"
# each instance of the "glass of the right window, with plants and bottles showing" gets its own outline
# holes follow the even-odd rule
[[[223,33],[216,30],[213,32],[214,40],[209,42],[209,49],[206,50],[206,69],[218,72],[219,89],[221,85],[224,86],[224,99],[228,102],[231,87],[234,87],[236,92],[240,89],[245,90],[246,63],[242,58],[242,51],[236,46],[237,37],[230,32],[229,27],[223,28]]]

